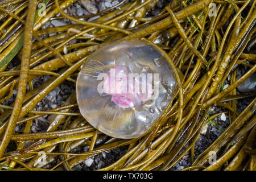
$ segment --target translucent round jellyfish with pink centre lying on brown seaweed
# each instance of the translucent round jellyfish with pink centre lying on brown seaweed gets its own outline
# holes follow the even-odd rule
[[[108,44],[92,53],[76,86],[82,116],[115,138],[143,135],[177,90],[166,57],[143,40]]]

